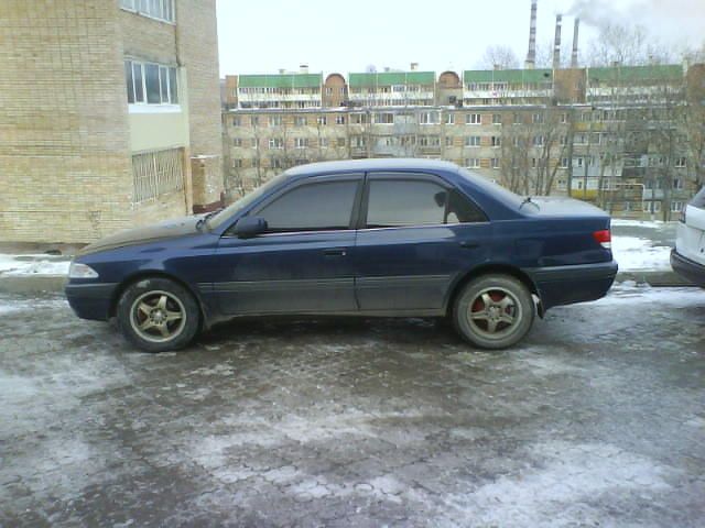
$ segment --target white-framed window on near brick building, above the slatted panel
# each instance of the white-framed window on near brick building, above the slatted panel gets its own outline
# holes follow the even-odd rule
[[[130,105],[178,105],[175,67],[124,61],[124,79]]]

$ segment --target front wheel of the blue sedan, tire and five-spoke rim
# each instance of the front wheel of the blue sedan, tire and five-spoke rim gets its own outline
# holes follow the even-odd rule
[[[183,349],[200,327],[200,309],[191,292],[161,277],[128,286],[118,301],[117,318],[124,338],[145,352]]]

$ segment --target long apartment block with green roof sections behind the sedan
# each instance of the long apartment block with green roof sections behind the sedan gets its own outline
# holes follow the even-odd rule
[[[655,64],[227,76],[228,191],[307,162],[432,157],[518,193],[671,218],[703,182],[682,130],[685,112],[703,111],[702,77],[703,65]]]

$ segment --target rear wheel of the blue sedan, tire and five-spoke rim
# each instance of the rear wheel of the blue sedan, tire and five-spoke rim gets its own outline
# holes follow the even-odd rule
[[[463,286],[453,306],[456,331],[475,346],[501,350],[531,329],[535,307],[531,292],[510,275],[482,275]]]

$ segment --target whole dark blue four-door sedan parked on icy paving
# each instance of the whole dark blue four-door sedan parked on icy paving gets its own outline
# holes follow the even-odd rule
[[[448,316],[474,345],[502,349],[536,314],[605,296],[609,228],[593,206],[522,198],[449,163],[318,163],[221,211],[88,245],[66,296],[153,352],[271,315]]]

